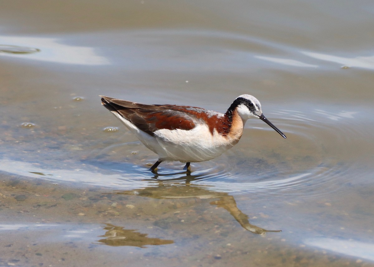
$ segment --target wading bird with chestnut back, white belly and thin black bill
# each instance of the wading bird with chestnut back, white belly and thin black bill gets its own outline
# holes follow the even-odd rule
[[[232,148],[243,134],[247,119],[266,122],[286,136],[262,114],[260,102],[251,95],[240,95],[225,114],[181,105],[148,105],[101,96],[101,104],[110,110],[159,159],[163,161],[202,162],[220,156]]]

